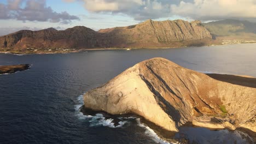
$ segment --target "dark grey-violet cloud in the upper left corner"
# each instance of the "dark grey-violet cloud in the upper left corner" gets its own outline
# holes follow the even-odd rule
[[[66,11],[57,13],[46,7],[45,0],[8,0],[7,4],[0,3],[0,19],[70,23],[79,20],[79,17]]]

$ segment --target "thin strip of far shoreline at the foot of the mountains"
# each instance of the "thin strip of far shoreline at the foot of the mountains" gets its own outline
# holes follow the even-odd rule
[[[256,44],[256,43],[241,43],[241,44]],[[203,46],[220,46],[220,45],[240,45],[240,44],[212,44],[212,45],[203,45]],[[99,50],[139,50],[139,49],[179,49],[179,48],[188,48],[188,47],[203,47],[203,46],[177,46],[177,47],[127,47],[127,48],[118,48],[118,47],[109,47],[109,48],[94,48],[94,49],[78,49],[74,51],[56,51],[56,52],[34,52],[34,53],[20,53],[20,52],[11,52],[11,51],[0,51],[0,53],[10,54],[10,55],[45,55],[45,54],[66,54],[66,53],[76,53],[83,51],[99,51]]]

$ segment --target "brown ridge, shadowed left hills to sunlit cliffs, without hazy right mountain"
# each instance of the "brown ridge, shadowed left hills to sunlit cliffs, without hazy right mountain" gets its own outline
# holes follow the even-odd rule
[[[83,26],[57,31],[19,31],[0,37],[0,47],[10,49],[90,49],[106,47],[176,47],[212,39],[201,22],[152,21],[134,26],[101,29],[98,32]],[[190,43],[188,43],[190,41]]]

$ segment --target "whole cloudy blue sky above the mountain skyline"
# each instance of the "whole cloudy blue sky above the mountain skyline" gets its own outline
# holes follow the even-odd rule
[[[49,27],[97,31],[147,19],[256,22],[256,0],[0,0],[0,35]]]

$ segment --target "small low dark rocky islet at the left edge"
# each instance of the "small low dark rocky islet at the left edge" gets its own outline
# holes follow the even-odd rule
[[[0,65],[0,74],[11,74],[16,71],[27,70],[30,68],[30,64],[19,65]]]

